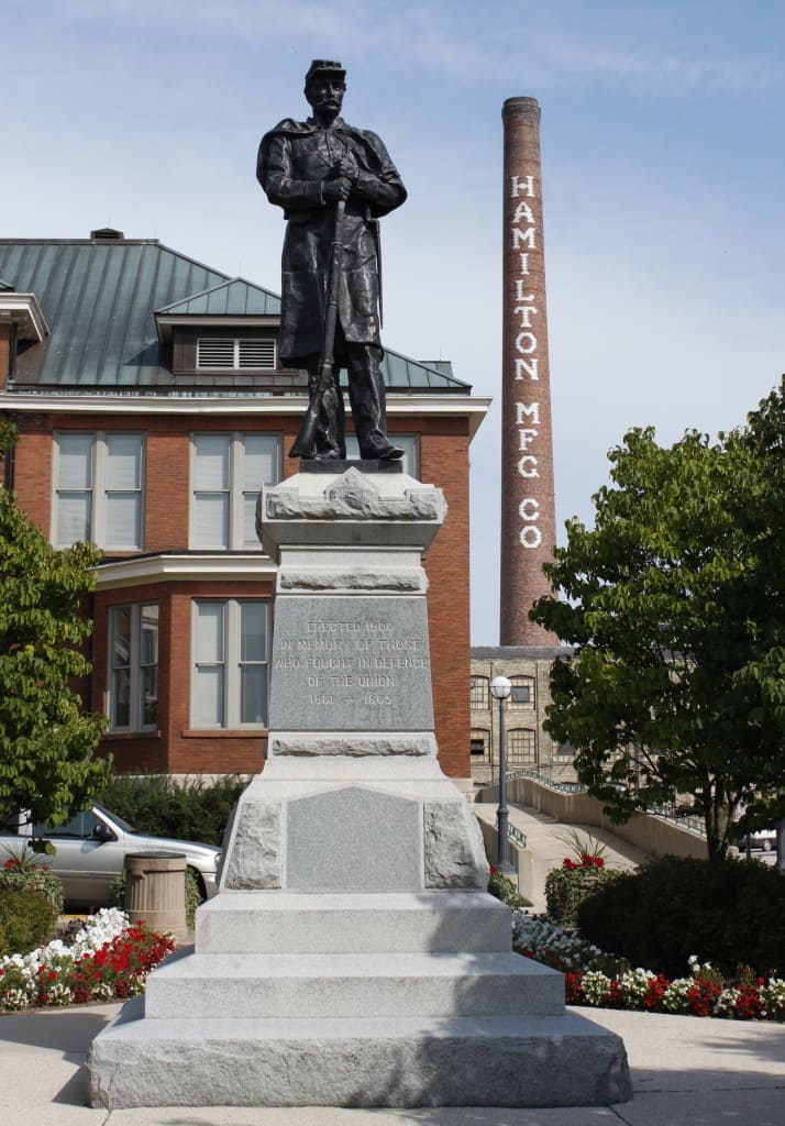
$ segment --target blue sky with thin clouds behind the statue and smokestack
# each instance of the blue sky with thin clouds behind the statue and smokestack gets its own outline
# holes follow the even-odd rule
[[[498,640],[501,105],[542,106],[560,527],[607,450],[744,418],[785,368],[779,0],[27,0],[3,6],[5,236],[113,225],[279,288],[262,132],[312,57],[409,189],[385,333],[497,401],[472,447],[472,638]]]

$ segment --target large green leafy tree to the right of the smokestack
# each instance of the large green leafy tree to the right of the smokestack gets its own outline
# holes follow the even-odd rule
[[[785,777],[783,402],[716,443],[631,430],[594,529],[570,522],[545,568],[563,597],[530,611],[574,646],[546,727],[581,780],[619,821],[663,802],[702,815],[711,860]]]

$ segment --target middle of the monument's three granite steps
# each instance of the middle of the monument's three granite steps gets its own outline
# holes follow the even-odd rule
[[[145,1015],[469,1017],[551,1015],[564,978],[518,954],[188,954],[148,980]]]

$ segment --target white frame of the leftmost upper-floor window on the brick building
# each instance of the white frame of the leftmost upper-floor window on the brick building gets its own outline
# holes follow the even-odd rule
[[[60,444],[62,438],[82,437],[91,439],[90,485],[88,489],[69,490],[60,488]],[[139,486],[118,490],[139,495],[139,535],[136,543],[108,543],[109,489],[108,458],[111,438],[136,438],[140,444]],[[56,430],[54,435],[54,465],[52,473],[52,544],[55,547],[71,547],[75,540],[60,535],[60,497],[66,492],[90,494],[88,542],[110,552],[141,551],[144,545],[144,493],[145,493],[145,434],[140,430]]]

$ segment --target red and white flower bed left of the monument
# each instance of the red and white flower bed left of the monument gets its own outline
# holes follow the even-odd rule
[[[104,909],[72,937],[0,958],[0,1010],[134,997],[173,949],[169,936],[131,926],[116,908]]]

